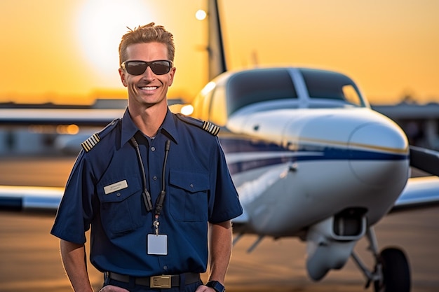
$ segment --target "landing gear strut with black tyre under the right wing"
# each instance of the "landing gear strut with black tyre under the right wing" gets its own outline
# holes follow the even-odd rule
[[[405,253],[397,248],[387,248],[378,253],[378,244],[373,228],[367,230],[367,240],[374,256],[374,271],[370,271],[352,251],[352,258],[367,278],[365,288],[374,284],[374,292],[410,292],[410,267]]]

